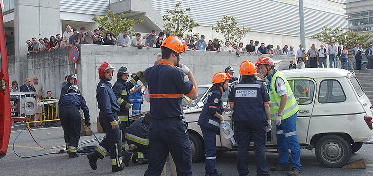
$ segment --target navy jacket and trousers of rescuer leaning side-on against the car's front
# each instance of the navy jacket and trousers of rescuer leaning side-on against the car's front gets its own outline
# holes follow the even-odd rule
[[[205,141],[206,175],[215,176],[218,175],[215,169],[216,134],[219,132],[220,119],[215,117],[214,114],[222,114],[222,90],[211,91],[204,104],[197,124],[201,127],[203,139]]]

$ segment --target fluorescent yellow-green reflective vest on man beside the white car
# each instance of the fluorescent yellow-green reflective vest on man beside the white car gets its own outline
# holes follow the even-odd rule
[[[299,111],[298,104],[296,102],[296,99],[294,97],[293,91],[291,90],[291,87],[289,85],[289,82],[286,80],[285,76],[280,73],[278,70],[274,70],[272,75],[268,79],[268,91],[269,91],[269,97],[271,98],[271,103],[269,104],[271,109],[271,119],[275,120],[278,110],[280,108],[280,102],[281,102],[281,96],[279,96],[276,92],[276,79],[281,78],[285,82],[286,86],[286,92],[287,92],[287,101],[284,108],[284,111],[282,111],[282,118],[281,120],[285,120],[292,115],[294,115],[296,112]],[[281,85],[279,85],[281,86]],[[282,85],[284,86],[284,85]]]

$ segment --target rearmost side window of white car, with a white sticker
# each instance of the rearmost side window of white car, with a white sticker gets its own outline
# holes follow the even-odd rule
[[[344,102],[346,95],[337,80],[323,80],[319,87],[318,101],[320,103]]]

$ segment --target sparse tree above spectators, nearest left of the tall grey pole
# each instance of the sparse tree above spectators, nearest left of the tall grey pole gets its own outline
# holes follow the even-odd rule
[[[238,44],[250,31],[250,28],[242,29],[237,26],[238,21],[234,17],[223,15],[221,21],[216,21],[216,26],[211,26],[217,33],[223,34],[226,41]]]

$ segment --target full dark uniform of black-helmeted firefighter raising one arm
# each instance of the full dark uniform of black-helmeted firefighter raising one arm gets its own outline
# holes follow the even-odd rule
[[[117,102],[120,106],[120,111],[118,113],[119,119],[121,121],[119,128],[121,131],[122,149],[126,148],[125,130],[127,127],[128,116],[130,114],[129,110],[126,109],[126,103],[130,103],[129,100],[129,90],[134,87],[136,82],[139,80],[137,76],[132,78],[130,81],[126,82],[121,78],[113,85],[113,92],[116,96]]]

